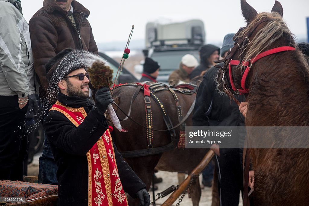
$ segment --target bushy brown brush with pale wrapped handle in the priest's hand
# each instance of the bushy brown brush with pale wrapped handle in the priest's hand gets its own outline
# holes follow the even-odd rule
[[[87,71],[90,74],[91,83],[89,86],[91,89],[98,90],[101,87],[110,88],[112,86],[113,70],[103,60],[95,61],[91,68]],[[125,132],[125,130],[121,127],[120,121],[114,108],[112,107],[112,104],[108,105],[107,111],[116,129],[120,132]]]

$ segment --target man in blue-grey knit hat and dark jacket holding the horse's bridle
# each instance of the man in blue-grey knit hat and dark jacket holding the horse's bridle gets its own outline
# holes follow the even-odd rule
[[[234,46],[233,36],[228,34],[224,37],[220,53],[222,57]],[[203,77],[193,110],[193,126],[244,126],[244,118],[237,104],[219,93],[217,74],[218,68],[212,67]],[[243,95],[236,98],[240,102],[244,101]],[[243,139],[239,139],[238,144],[243,145]],[[239,192],[243,190],[242,150],[219,149],[218,145],[213,150],[219,168],[220,205],[236,206],[239,204]]]

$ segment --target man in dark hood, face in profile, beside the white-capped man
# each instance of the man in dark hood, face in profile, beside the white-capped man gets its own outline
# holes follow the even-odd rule
[[[220,48],[206,44],[199,50],[200,64],[191,72],[190,79],[201,75],[203,71],[207,71],[210,67],[214,66],[214,61],[219,59]]]

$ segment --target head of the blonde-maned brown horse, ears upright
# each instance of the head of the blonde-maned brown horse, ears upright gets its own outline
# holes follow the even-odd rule
[[[245,66],[241,62],[250,62],[259,53],[272,48],[281,46],[296,47],[293,34],[282,20],[283,9],[278,1],[275,1],[271,13],[262,12],[258,14],[245,0],[241,0],[241,9],[247,25],[240,28],[235,34],[235,46],[225,58],[225,64],[222,68],[224,72],[219,71],[217,78],[219,90],[230,90],[236,95],[239,94],[239,90],[243,90],[241,80]],[[240,64],[232,65],[230,72],[228,64],[231,59],[238,60]],[[248,65],[250,64],[248,63]],[[255,69],[255,65],[250,68],[245,81],[245,88],[247,89],[250,89],[250,82],[252,82]],[[232,77],[230,77],[230,74],[232,74]],[[234,88],[237,90],[232,89],[231,83],[234,84]]]

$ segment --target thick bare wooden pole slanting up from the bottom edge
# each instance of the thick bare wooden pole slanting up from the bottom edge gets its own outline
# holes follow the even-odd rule
[[[188,187],[191,179],[196,175],[200,174],[201,171],[208,165],[211,158],[214,156],[214,152],[209,150],[202,161],[192,170],[192,172],[188,175],[188,177],[179,185],[178,189],[175,190],[171,196],[162,204],[162,206],[171,206],[177,198],[181,195],[181,193]],[[197,180],[198,181],[198,180]]]

